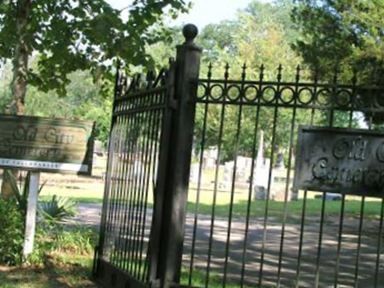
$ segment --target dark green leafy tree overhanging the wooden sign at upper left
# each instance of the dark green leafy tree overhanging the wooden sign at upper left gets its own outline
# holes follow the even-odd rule
[[[68,74],[90,69],[106,76],[119,57],[130,64],[150,61],[145,45],[162,35],[151,28],[165,9],[185,11],[184,0],[135,0],[128,19],[105,0],[8,0],[0,3],[0,59],[13,65],[12,114],[24,114],[27,86],[65,94]],[[31,69],[31,55],[38,54]]]

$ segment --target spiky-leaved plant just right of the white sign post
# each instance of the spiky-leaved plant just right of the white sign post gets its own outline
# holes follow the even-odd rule
[[[52,196],[49,201],[39,202],[39,215],[44,221],[50,224],[57,224],[65,221],[76,214],[76,202],[70,198]]]

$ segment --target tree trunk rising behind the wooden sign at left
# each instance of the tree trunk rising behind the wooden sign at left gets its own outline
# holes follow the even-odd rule
[[[16,29],[18,42],[15,47],[13,58],[13,76],[12,76],[12,102],[8,107],[7,113],[12,115],[24,114],[25,94],[27,92],[27,73],[30,47],[28,43],[28,21],[30,17],[32,0],[17,1],[16,10]],[[14,171],[14,174],[17,174]],[[1,183],[1,196],[8,199],[13,195],[13,191],[8,181]]]

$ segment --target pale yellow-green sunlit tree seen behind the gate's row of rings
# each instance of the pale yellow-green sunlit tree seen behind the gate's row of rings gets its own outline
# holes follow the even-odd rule
[[[248,7],[238,12],[237,17],[231,21],[223,21],[219,24],[206,26],[198,38],[198,44],[203,47],[203,77],[206,77],[208,63],[212,63],[214,69],[213,78],[222,79],[225,75],[226,63],[229,64],[229,78],[240,79],[243,73],[242,67],[246,63],[246,79],[257,80],[260,73],[260,65],[264,64],[264,80],[276,81],[277,68],[283,66],[283,79],[290,81],[295,79],[296,67],[301,58],[291,48],[297,35],[290,19],[292,3],[289,0],[276,1],[275,3],[259,3],[252,1]],[[302,73],[305,75],[305,73]],[[220,91],[213,91],[220,93]],[[218,95],[215,95],[218,96]],[[204,107],[197,107],[196,139],[202,138],[204,122]],[[221,157],[223,161],[234,159],[236,148],[238,153],[251,156],[253,147],[254,126],[256,123],[255,109],[243,107],[240,115],[239,107],[227,105],[225,108],[225,125],[223,137],[218,139],[218,131],[222,110],[218,105],[211,105],[207,112],[207,129],[205,133],[205,145],[214,146],[221,142]],[[241,117],[240,117],[241,116]],[[297,113],[297,121],[305,122],[305,113]],[[289,129],[292,111],[280,109],[278,113],[276,139],[274,145],[280,148],[289,144]],[[240,131],[238,131],[238,123]],[[272,129],[274,125],[273,109],[263,107],[260,110],[258,129],[265,131],[266,151],[272,148]],[[237,133],[238,147],[235,147]],[[268,155],[266,155],[268,156]]]

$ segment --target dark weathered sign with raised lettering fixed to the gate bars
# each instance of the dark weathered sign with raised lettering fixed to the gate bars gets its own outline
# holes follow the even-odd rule
[[[294,189],[384,196],[384,133],[301,126]]]

